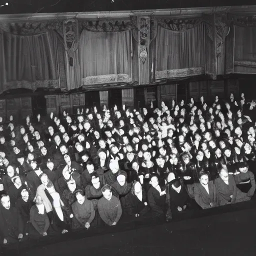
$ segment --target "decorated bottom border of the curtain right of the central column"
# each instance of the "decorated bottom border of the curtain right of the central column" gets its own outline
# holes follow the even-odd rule
[[[155,71],[155,80],[170,78],[170,77],[185,77],[192,75],[204,74],[204,67],[191,67],[182,69],[172,69],[172,70],[161,70]]]

